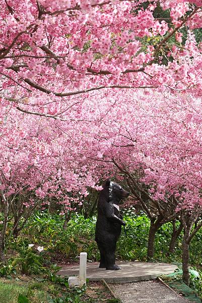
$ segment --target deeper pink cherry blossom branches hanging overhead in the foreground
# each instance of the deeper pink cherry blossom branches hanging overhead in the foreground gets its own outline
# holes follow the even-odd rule
[[[194,43],[184,45],[181,31],[200,28],[200,0],[0,5],[2,98],[19,111],[65,119],[71,96],[105,87],[170,87],[200,95],[201,56],[191,64],[178,60],[195,58]],[[159,5],[170,10],[169,20],[155,18]]]

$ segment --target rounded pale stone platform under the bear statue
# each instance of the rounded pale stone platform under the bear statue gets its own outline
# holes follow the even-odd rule
[[[175,265],[167,263],[117,262],[116,264],[121,266],[121,270],[106,270],[99,268],[99,263],[88,263],[87,278],[90,281],[104,279],[108,283],[128,283],[155,279],[170,274],[176,269]],[[57,274],[68,277],[78,275],[79,265],[65,266]]]

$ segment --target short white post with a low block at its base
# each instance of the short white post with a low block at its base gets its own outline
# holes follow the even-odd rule
[[[79,276],[70,277],[68,283],[71,287],[82,287],[86,285],[86,266],[87,266],[87,252],[81,252],[80,254],[80,265],[79,265]]]

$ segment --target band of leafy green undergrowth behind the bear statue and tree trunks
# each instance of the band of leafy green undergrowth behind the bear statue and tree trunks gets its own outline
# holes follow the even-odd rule
[[[125,261],[146,261],[150,220],[144,214],[136,215],[133,208],[124,212],[125,230],[122,229],[117,243],[116,257]],[[86,251],[88,260],[98,261],[99,251],[95,238],[96,217],[85,219],[74,214],[63,229],[64,218],[50,215],[47,212],[37,212],[33,215],[15,241],[10,241],[10,248],[19,250],[28,243],[44,246],[47,255],[63,255],[69,261],[78,261],[81,251]],[[177,223],[179,226],[179,222]],[[174,254],[169,253],[172,234],[172,224],[164,224],[156,233],[154,261],[181,262],[182,233],[176,241]],[[202,265],[202,230],[193,237],[190,243],[190,263]],[[23,257],[24,258],[24,257]]]

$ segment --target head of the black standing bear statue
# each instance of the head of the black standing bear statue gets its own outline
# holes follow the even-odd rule
[[[107,179],[105,186],[109,188],[109,200],[119,202],[129,195],[127,190],[124,190],[118,183],[110,181],[110,179]]]

